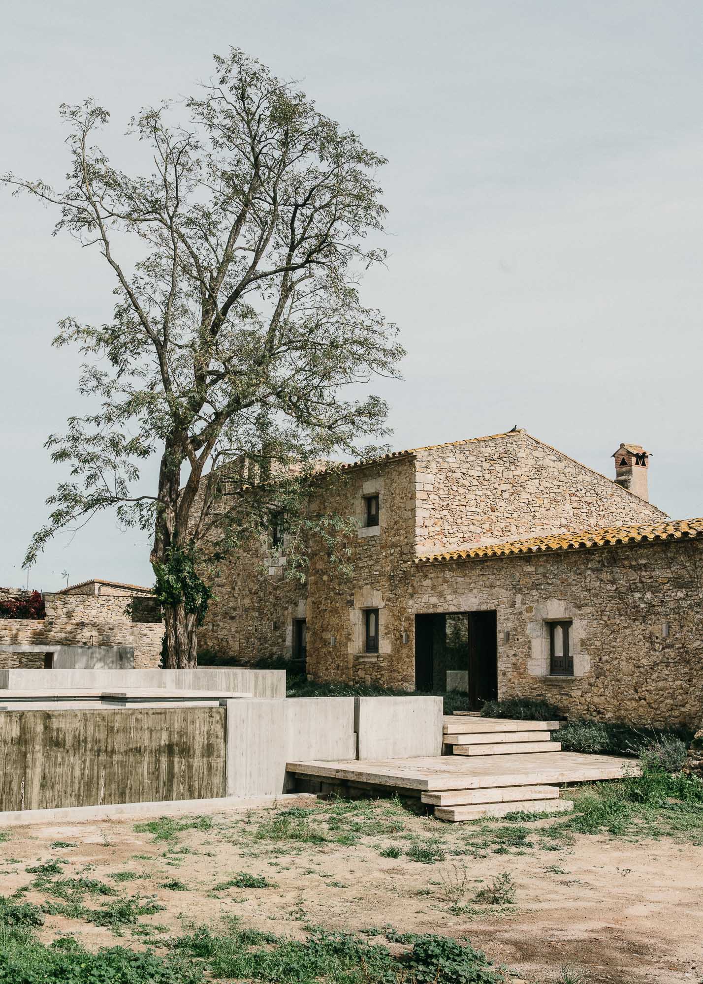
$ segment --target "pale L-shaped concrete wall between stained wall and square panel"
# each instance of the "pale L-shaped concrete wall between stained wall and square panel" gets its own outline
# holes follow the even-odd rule
[[[227,701],[227,796],[282,793],[286,763],[353,759],[352,697]]]

